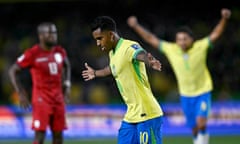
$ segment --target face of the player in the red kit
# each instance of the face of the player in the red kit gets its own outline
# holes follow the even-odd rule
[[[57,44],[57,28],[55,25],[45,26],[40,34],[40,40],[47,46],[52,47]]]

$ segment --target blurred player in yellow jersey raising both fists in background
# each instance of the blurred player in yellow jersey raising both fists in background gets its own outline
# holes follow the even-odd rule
[[[206,131],[210,110],[212,79],[206,65],[208,48],[223,33],[231,16],[229,9],[221,10],[221,19],[210,35],[195,40],[188,27],[181,27],[175,35],[175,42],[157,38],[140,25],[135,16],[130,16],[128,25],[152,47],[159,49],[169,60],[175,73],[181,105],[187,125],[192,129],[194,144],[208,144]]]

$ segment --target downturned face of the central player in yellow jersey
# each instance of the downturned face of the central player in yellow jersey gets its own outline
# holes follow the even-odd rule
[[[100,28],[92,32],[93,38],[96,40],[97,46],[102,50],[109,52],[113,48],[113,34],[111,31],[101,31]]]

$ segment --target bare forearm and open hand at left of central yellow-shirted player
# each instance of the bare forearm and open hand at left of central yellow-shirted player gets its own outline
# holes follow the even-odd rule
[[[110,67],[107,66],[100,70],[94,70],[92,67],[90,67],[87,63],[85,63],[86,70],[82,72],[82,76],[85,81],[89,81],[94,79],[95,77],[104,77],[112,74]]]

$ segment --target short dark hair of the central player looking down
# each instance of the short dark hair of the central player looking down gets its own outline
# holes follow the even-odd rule
[[[109,16],[99,16],[91,23],[91,30],[100,28],[102,31],[110,30],[116,32],[116,22]]]

